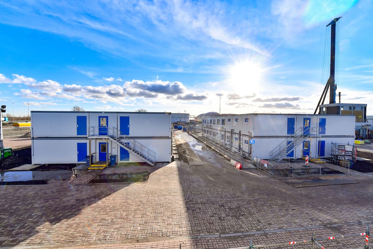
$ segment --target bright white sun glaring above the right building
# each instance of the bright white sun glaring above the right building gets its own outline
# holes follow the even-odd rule
[[[229,68],[229,83],[235,90],[257,93],[261,89],[263,67],[260,63],[244,60]]]

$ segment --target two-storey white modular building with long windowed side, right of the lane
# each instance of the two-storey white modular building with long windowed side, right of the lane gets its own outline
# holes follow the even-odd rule
[[[203,116],[200,136],[243,156],[327,158],[333,144],[353,146],[355,116],[240,114]]]

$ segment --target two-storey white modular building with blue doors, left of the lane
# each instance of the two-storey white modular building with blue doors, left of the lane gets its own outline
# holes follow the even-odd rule
[[[32,164],[171,162],[171,115],[31,111]],[[89,156],[90,155],[90,156]]]

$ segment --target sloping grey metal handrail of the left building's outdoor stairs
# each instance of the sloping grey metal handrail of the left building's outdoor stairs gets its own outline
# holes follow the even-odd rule
[[[122,131],[119,131],[117,128],[113,127],[109,129],[112,131],[112,136],[122,140],[125,144],[129,145],[129,148],[132,152],[134,150],[141,153],[143,158],[147,161],[154,163],[156,161],[156,153],[153,150],[148,149],[138,141],[134,140],[133,138],[129,137],[128,135],[124,134]],[[134,152],[136,153],[136,152]]]

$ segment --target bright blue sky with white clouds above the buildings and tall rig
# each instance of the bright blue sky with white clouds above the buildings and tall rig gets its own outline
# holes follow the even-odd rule
[[[0,0],[7,113],[313,113],[338,21],[342,103],[373,115],[370,0]],[[337,97],[338,99],[338,97]],[[14,103],[12,105],[12,103]]]

